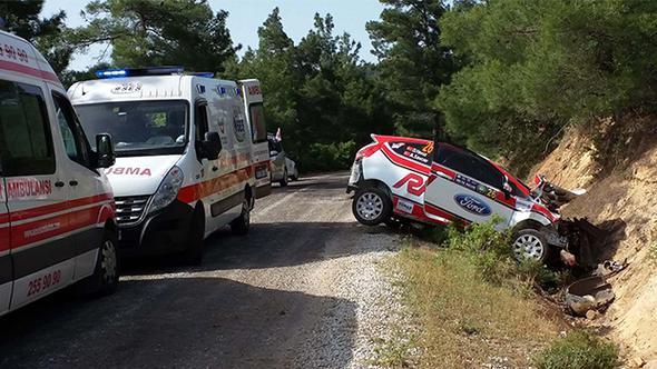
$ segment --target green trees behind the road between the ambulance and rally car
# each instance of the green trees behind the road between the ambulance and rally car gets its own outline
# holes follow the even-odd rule
[[[227,77],[263,82],[267,126],[306,171],[346,169],[372,132],[392,132],[391,116],[360,44],[335,36],[331,14],[294,44],[278,9],[258,29],[256,50],[228,63]]]

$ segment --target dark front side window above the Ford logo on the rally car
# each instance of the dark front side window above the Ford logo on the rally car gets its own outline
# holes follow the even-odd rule
[[[460,148],[440,144],[435,150],[434,161],[497,189],[501,189],[504,183],[504,176],[496,167]]]

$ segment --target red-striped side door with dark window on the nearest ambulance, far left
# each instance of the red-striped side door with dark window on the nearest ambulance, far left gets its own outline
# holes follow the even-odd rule
[[[56,164],[61,146],[53,141],[46,91],[45,83],[0,81],[12,310],[68,285],[75,267],[68,205],[72,173]]]

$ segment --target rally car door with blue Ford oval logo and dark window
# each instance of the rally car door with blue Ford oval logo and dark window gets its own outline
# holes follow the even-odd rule
[[[493,216],[509,225],[513,208],[501,192],[504,174],[480,156],[440,143],[434,150],[425,192],[428,216],[463,223],[490,221]]]

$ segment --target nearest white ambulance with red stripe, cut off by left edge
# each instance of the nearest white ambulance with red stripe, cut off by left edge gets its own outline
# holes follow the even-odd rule
[[[73,282],[118,283],[109,136],[90,148],[63,87],[0,31],[0,316]]]

